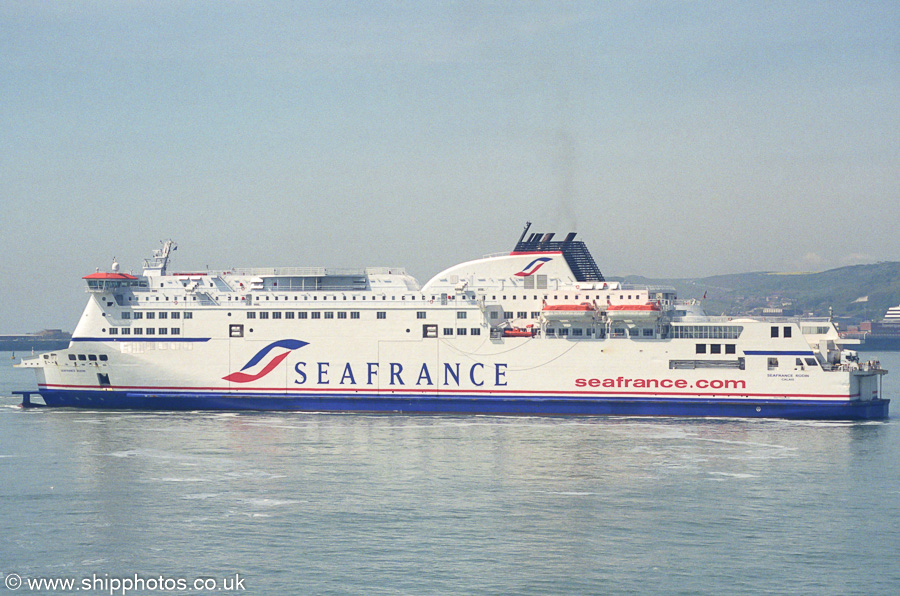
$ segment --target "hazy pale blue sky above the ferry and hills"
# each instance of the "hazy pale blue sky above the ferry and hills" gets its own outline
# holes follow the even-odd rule
[[[0,0],[0,333],[81,277],[900,260],[900,3]]]

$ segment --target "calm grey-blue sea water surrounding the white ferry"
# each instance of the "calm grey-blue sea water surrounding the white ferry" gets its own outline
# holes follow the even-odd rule
[[[33,372],[4,352],[0,577],[897,594],[900,354],[881,360],[897,418],[823,423],[23,411]]]

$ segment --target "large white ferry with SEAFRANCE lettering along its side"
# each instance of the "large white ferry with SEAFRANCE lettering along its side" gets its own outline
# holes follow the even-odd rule
[[[23,405],[877,419],[886,372],[829,319],[710,317],[531,233],[424,285],[392,267],[84,277],[68,348],[22,360]],[[33,401],[33,400],[40,400]]]

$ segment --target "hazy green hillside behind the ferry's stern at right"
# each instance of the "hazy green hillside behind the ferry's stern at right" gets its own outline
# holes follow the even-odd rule
[[[785,314],[812,313],[848,322],[878,321],[900,304],[900,263],[853,265],[820,273],[740,273],[690,279],[626,277],[629,283],[674,286],[680,298],[702,298],[710,314],[761,314],[782,307]]]

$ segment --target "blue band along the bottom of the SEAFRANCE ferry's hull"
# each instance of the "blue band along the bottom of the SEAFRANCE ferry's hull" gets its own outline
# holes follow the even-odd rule
[[[131,410],[285,410],[445,414],[618,415],[868,420],[888,417],[890,400],[815,401],[722,398],[535,397],[355,394],[133,393],[40,391],[48,406]]]

